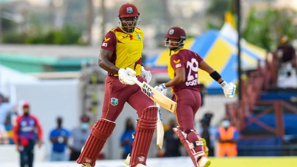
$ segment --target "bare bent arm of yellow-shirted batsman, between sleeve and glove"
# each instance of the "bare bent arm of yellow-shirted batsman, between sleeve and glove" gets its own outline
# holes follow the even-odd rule
[[[99,66],[110,73],[118,74],[119,68],[110,61],[112,54],[113,51],[108,51],[101,48],[99,56]]]

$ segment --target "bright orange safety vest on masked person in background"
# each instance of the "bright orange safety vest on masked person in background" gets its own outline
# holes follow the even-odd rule
[[[220,127],[218,129],[220,138],[222,140],[232,140],[234,137],[234,132],[236,131],[235,127],[228,127],[227,131],[224,127]],[[217,155],[219,157],[235,157],[237,156],[237,144],[236,143],[228,143],[228,142],[219,142]]]

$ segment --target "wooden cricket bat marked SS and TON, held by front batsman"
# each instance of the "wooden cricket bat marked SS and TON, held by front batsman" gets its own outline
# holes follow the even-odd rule
[[[150,86],[146,82],[140,82],[135,77],[131,77],[133,81],[141,88],[141,91],[145,93],[150,99],[152,99],[154,102],[159,104],[161,107],[165,108],[166,110],[170,112],[175,112],[176,110],[176,103],[163,95],[161,92],[154,89],[152,86]]]

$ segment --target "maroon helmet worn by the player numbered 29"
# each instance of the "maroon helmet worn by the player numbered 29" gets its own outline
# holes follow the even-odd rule
[[[164,41],[165,42],[164,46],[167,46],[167,47],[170,47],[169,38],[179,40],[179,42],[175,42],[175,43],[178,43],[178,45],[175,46],[176,49],[174,51],[178,50],[179,48],[182,48],[185,44],[184,41],[187,39],[185,30],[178,26],[169,28],[167,35],[164,36],[164,38],[167,38],[167,40]]]

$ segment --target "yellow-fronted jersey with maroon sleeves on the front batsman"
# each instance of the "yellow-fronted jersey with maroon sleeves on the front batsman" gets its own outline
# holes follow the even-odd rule
[[[135,28],[132,33],[125,32],[121,27],[111,29],[104,37],[101,48],[113,51],[111,63],[118,68],[127,67],[136,71],[136,76],[141,74],[141,52],[143,48],[143,32]],[[110,76],[118,74],[108,73]]]

